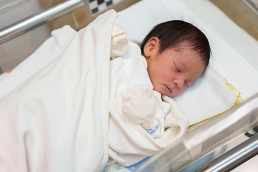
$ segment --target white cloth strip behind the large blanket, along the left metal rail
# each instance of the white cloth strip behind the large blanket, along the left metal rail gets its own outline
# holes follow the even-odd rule
[[[11,72],[1,74],[3,77],[0,77],[0,99],[63,53],[76,33],[77,31],[73,30],[69,25],[53,30],[51,37],[35,52]]]

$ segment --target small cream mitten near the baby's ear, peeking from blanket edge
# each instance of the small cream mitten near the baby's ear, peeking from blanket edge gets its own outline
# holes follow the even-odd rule
[[[127,33],[119,25],[114,24],[111,38],[110,57],[120,57],[129,49]]]

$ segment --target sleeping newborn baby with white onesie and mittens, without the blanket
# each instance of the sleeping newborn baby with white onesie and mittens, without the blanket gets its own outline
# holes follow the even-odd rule
[[[158,24],[141,47],[127,41],[126,35],[114,25],[110,94],[125,120],[153,133],[162,127],[159,124],[170,109],[161,94],[177,96],[194,84],[208,65],[209,42],[197,27],[184,21]]]

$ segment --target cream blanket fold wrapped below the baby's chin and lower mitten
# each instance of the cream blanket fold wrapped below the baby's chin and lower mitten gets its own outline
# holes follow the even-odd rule
[[[152,137],[140,125],[126,122],[119,105],[110,97],[107,164],[118,162],[124,166],[133,165],[148,156],[155,155],[186,133],[188,119],[185,114],[172,98],[163,95],[162,99],[171,107],[164,119],[165,131],[161,137]]]

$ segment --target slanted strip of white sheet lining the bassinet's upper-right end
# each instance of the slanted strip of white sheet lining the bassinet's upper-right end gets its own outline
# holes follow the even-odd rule
[[[258,71],[258,42],[207,0],[183,1],[188,9]],[[218,24],[219,23],[219,24]]]

